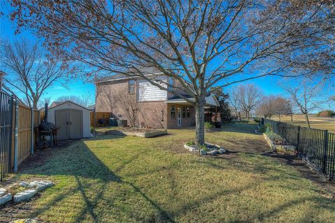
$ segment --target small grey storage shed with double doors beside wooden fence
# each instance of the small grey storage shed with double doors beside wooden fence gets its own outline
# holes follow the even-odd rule
[[[60,127],[57,134],[59,140],[91,137],[89,109],[69,100],[50,107],[47,121]]]

